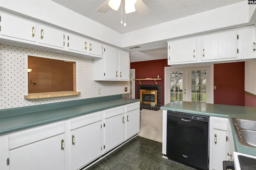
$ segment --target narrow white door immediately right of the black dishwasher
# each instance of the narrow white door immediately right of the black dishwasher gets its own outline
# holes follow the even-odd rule
[[[213,129],[213,147],[212,147],[212,169],[222,170],[222,162],[226,160],[226,136],[227,131]]]

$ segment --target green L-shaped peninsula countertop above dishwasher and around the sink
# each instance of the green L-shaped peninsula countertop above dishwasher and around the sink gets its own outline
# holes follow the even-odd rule
[[[256,148],[244,146],[239,143],[236,131],[232,123],[232,118],[256,121],[256,107],[173,101],[162,106],[160,109],[196,115],[228,118],[232,128],[236,152],[256,156]]]

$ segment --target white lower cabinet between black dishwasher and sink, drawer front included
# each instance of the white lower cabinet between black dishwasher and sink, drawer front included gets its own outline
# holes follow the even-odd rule
[[[222,170],[222,162],[231,160],[234,140],[227,118],[210,117],[210,170]]]

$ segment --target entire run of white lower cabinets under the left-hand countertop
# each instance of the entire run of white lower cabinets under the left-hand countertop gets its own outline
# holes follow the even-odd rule
[[[77,170],[140,131],[140,102],[0,135],[0,170]]]

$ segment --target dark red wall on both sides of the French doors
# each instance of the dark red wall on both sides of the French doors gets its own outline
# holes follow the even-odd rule
[[[162,80],[161,104],[164,105],[164,67],[168,67],[167,59],[141,61],[130,63],[130,68],[135,69],[135,78],[156,78]],[[142,84],[154,84],[154,81],[141,81]],[[135,81],[135,93],[137,93],[138,81]],[[214,103],[224,105],[244,106],[244,62],[214,64]],[[137,95],[135,95],[137,97]]]

